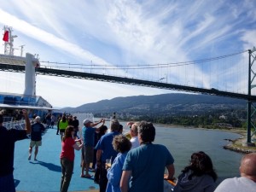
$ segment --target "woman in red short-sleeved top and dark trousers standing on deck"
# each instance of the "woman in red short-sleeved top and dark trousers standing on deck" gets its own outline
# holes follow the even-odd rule
[[[73,161],[74,161],[74,149],[80,150],[83,147],[81,140],[74,140],[74,127],[69,125],[65,130],[65,135],[61,142],[61,192],[67,192],[72,173],[73,173]],[[80,142],[77,145],[76,142]]]

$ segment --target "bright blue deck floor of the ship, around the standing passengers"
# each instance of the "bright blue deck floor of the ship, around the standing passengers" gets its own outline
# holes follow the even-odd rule
[[[38,160],[28,160],[30,139],[15,143],[15,186],[17,191],[60,191],[61,183],[61,138],[56,135],[56,129],[48,129],[43,136],[42,146],[39,147]],[[99,189],[93,179],[80,177],[80,154],[75,151],[73,177],[69,191]],[[93,174],[93,172],[90,172]]]

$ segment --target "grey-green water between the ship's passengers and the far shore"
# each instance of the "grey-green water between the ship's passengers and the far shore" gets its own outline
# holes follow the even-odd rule
[[[125,123],[121,122],[122,125]],[[217,183],[227,177],[239,177],[239,166],[242,154],[223,148],[228,142],[224,139],[236,139],[239,134],[228,131],[212,131],[204,129],[171,128],[154,125],[156,136],[154,143],[166,146],[175,159],[175,177],[189,165],[191,154],[204,151],[211,159],[218,174]],[[127,131],[127,127],[125,131]]]

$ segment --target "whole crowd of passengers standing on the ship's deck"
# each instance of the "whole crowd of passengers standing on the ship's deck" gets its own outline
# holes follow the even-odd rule
[[[3,192],[15,191],[15,142],[31,135],[28,160],[32,158],[33,147],[34,160],[37,160],[38,147],[42,145],[44,125],[40,117],[35,116],[30,122],[26,110],[22,115],[26,120],[25,130],[5,129],[0,115],[0,189]],[[46,121],[49,128],[53,126],[51,120]],[[256,189],[256,153],[246,154],[241,159],[241,177],[227,178],[217,186],[217,172],[210,156],[203,151],[191,154],[189,165],[184,166],[176,179],[174,157],[166,146],[154,144],[156,133],[150,122],[128,122],[130,137],[127,137],[118,119],[112,119],[109,132],[105,119],[97,122],[84,119],[82,127],[76,116],[65,113],[56,120],[56,135],[59,132],[61,135],[61,192],[68,191],[74,150],[80,149],[80,177],[93,178],[100,192],[161,192],[164,191],[164,179],[176,182],[174,192],[251,192]],[[94,177],[89,171],[95,172]]]

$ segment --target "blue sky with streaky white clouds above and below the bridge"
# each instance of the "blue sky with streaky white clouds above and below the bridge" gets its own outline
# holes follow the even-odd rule
[[[15,55],[20,55],[20,45],[25,44],[24,53],[38,54],[43,65],[42,61],[93,63],[111,67],[107,72],[92,70],[93,73],[156,80],[165,77],[166,81],[168,76],[168,82],[211,88],[212,79],[217,82],[219,76],[208,75],[201,66],[186,68],[193,70],[193,80],[177,79],[182,75],[179,73],[185,73],[179,72],[180,69],[172,72],[163,69],[155,74],[154,70],[125,71],[124,66],[194,61],[256,46],[256,1],[251,0],[0,0],[0,3],[0,26],[12,26],[18,35]],[[236,68],[236,64],[232,62],[231,68]],[[1,72],[0,75],[2,92],[23,93],[24,74]],[[234,80],[227,75],[225,79],[230,79],[233,86],[236,80],[237,86],[246,87],[241,79]],[[117,96],[169,92],[89,80],[37,77],[37,95],[54,107],[78,107]]]

